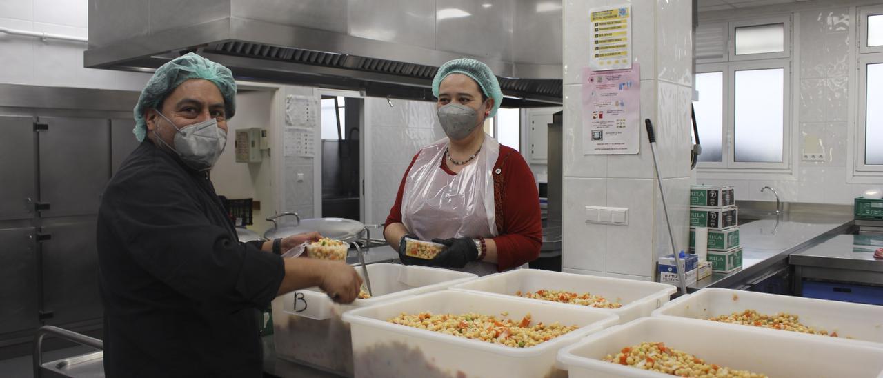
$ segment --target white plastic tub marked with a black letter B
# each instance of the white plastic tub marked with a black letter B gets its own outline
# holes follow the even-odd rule
[[[344,312],[390,299],[445,290],[452,284],[476,277],[472,273],[399,264],[371,264],[366,268],[374,291],[372,298],[340,305],[318,288],[276,298],[273,301],[276,354],[336,374],[352,375],[350,325],[341,321]],[[362,274],[360,268],[356,272]]]

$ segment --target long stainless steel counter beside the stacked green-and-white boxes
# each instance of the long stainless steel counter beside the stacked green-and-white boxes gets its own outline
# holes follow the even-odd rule
[[[688,287],[697,291],[706,287],[739,288],[752,276],[762,275],[777,264],[788,265],[791,253],[819,244],[847,230],[851,215],[809,215],[791,213],[753,221],[739,226],[743,247],[742,268],[732,273],[713,273]]]

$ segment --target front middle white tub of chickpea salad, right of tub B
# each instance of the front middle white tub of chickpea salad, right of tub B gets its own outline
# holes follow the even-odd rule
[[[530,313],[533,321],[579,329],[529,348],[513,348],[479,340],[415,329],[387,321],[399,314],[495,314],[508,313],[521,319]],[[437,291],[396,299],[343,314],[351,323],[352,352],[357,377],[548,377],[566,376],[555,367],[555,355],[562,346],[597,332],[617,321],[615,314],[592,308],[555,306],[487,296],[465,291]]]

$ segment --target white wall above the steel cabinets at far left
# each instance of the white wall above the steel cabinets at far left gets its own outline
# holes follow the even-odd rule
[[[0,26],[87,37],[87,0],[3,0]],[[0,83],[138,90],[150,75],[83,68],[84,42],[0,34]]]

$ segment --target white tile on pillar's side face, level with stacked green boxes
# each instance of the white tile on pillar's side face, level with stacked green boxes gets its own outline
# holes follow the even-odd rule
[[[691,178],[668,178],[662,180],[665,190],[665,200],[668,205],[668,220],[671,222],[671,231],[675,235],[675,246],[678,251],[687,251],[690,247],[690,185]],[[650,261],[650,269],[653,269],[653,261],[657,261],[660,255],[671,253],[671,238],[668,236],[666,215],[662,207],[659,184],[653,182],[653,195],[655,197],[653,256]],[[645,275],[641,275],[645,276]],[[651,273],[649,276],[653,276]]]

